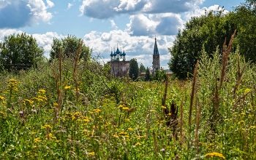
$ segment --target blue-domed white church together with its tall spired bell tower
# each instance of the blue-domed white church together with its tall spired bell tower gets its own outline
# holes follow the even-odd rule
[[[157,47],[157,38],[154,39],[154,52],[153,52],[153,63],[152,63],[152,73],[154,74],[155,71],[160,70],[160,57],[159,51]],[[110,73],[113,76],[127,76],[129,71],[129,60],[126,60],[126,53],[120,51],[118,49],[118,45],[116,47],[116,51],[114,52],[111,49],[110,53],[110,61],[108,64],[110,65]]]

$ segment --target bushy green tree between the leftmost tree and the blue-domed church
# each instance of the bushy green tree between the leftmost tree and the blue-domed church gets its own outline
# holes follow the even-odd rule
[[[80,58],[87,61],[91,58],[91,49],[86,47],[83,39],[78,39],[76,36],[67,36],[64,39],[53,39],[53,44],[51,44],[50,49],[50,62],[55,58],[59,58],[59,53],[62,52],[64,57],[69,57],[75,60],[80,44],[82,47],[80,49]]]

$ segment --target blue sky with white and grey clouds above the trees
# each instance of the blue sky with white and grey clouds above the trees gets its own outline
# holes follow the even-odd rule
[[[110,60],[112,49],[122,49],[127,60],[152,65],[154,37],[161,66],[167,68],[178,28],[191,16],[224,7],[232,10],[244,0],[0,0],[0,41],[26,32],[37,39],[49,56],[53,37],[75,35]]]

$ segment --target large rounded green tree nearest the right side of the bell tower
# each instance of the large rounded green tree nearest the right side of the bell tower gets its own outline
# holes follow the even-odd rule
[[[183,31],[178,31],[173,47],[169,48],[171,55],[168,63],[170,71],[179,79],[192,76],[195,63],[200,57],[203,47],[208,55],[216,49],[221,54],[222,44],[227,37],[227,43],[236,29],[230,15],[224,15],[223,9],[211,11],[201,17],[192,17]]]

